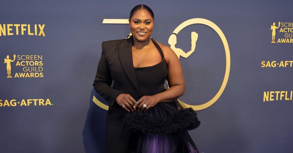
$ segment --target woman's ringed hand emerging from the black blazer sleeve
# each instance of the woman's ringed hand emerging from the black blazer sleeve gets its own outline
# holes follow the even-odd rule
[[[124,106],[123,108],[125,109],[125,111],[133,111],[135,99],[130,96],[130,94],[119,94],[119,96],[116,98],[116,102],[121,107]]]

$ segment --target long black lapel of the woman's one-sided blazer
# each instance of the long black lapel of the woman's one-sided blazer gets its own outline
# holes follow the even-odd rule
[[[128,78],[132,82],[132,84],[135,86],[136,90],[138,91],[139,95],[141,95],[134,66],[133,66],[133,59],[132,59],[132,35],[125,39],[125,43],[122,47],[118,48],[119,52],[119,59],[122,65],[122,68],[124,69],[125,73],[127,74]]]

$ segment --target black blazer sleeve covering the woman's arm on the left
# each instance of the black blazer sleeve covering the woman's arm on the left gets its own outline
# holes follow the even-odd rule
[[[98,63],[96,78],[94,80],[93,86],[96,92],[109,103],[109,112],[112,110],[113,106],[117,104],[116,98],[122,94],[122,92],[111,87],[113,78],[108,68],[108,61],[106,57],[104,42],[102,42],[102,54]]]

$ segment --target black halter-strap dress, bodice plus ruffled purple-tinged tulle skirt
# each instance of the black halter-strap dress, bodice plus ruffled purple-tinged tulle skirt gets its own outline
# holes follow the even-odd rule
[[[134,68],[142,95],[167,90],[164,83],[168,68],[163,51],[151,40],[163,60],[153,66]],[[199,153],[188,133],[200,125],[197,113],[192,108],[183,108],[177,100],[158,103],[148,111],[130,111],[122,122],[125,130],[133,132],[130,153]]]

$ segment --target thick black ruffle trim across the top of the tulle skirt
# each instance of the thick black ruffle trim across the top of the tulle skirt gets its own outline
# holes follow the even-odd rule
[[[193,130],[200,125],[200,121],[196,111],[186,108],[164,118],[151,118],[144,112],[129,112],[125,114],[122,124],[124,129],[132,132],[156,134]]]

